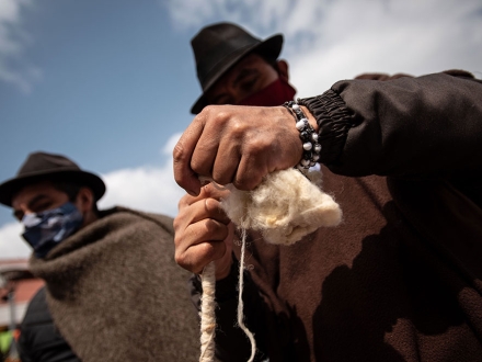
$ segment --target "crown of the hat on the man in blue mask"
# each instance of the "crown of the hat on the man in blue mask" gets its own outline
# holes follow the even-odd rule
[[[18,177],[46,171],[78,170],[79,166],[61,155],[33,152],[16,172]]]

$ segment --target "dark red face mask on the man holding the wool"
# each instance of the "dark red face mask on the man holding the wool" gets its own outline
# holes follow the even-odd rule
[[[279,77],[261,91],[243,99],[239,105],[282,105],[285,102],[292,101],[295,94],[295,88]]]

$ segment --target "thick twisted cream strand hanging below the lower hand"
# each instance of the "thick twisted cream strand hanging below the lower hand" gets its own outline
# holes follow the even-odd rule
[[[216,332],[216,268],[215,262],[207,264],[200,275],[203,295],[200,297],[200,357],[199,362],[215,360]]]

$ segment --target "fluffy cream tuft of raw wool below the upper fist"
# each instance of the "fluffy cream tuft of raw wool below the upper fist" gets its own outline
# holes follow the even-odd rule
[[[261,231],[271,244],[292,245],[319,227],[336,226],[342,211],[321,190],[321,172],[307,176],[296,169],[275,171],[253,191],[227,185],[221,201],[228,217],[240,228]]]

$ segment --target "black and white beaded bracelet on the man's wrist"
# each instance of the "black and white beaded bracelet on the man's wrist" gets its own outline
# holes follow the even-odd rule
[[[283,105],[294,115],[296,128],[299,131],[299,137],[303,143],[303,156],[297,167],[300,170],[307,170],[317,165],[320,159],[321,145],[318,143],[318,134],[297,102],[289,101]]]

